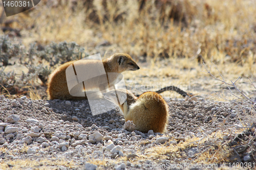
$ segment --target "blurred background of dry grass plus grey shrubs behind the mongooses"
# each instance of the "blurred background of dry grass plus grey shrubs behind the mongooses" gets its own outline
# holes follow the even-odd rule
[[[255,13],[253,0],[41,0],[10,17],[1,4],[0,92],[45,99],[33,89],[45,91],[56,66],[96,53],[128,53],[151,66],[172,61],[164,70],[147,65],[149,76],[187,83],[200,78],[190,73],[202,61],[218,64],[230,79],[255,78]]]

